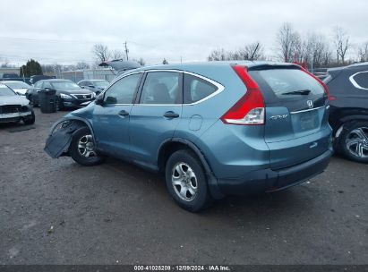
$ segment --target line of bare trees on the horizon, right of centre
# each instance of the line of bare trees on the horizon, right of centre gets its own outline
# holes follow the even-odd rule
[[[286,63],[304,63],[309,67],[368,62],[368,41],[354,45],[347,31],[338,26],[333,29],[332,36],[327,38],[314,32],[302,36],[291,23],[285,22],[278,29],[274,47],[270,49],[274,55],[265,55],[261,42],[253,42],[234,51],[219,48],[210,52],[208,60],[278,60]],[[355,56],[347,59],[347,55],[352,55],[353,50]]]

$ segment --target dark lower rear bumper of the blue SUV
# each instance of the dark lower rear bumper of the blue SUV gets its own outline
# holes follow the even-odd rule
[[[251,172],[244,178],[218,179],[216,188],[211,191],[220,191],[223,195],[247,195],[266,191],[280,191],[303,183],[317,174],[321,174],[329,165],[332,151],[328,150],[302,164],[279,170],[262,169]]]

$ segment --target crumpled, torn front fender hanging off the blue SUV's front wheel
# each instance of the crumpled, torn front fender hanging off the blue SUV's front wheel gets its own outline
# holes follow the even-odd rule
[[[53,158],[68,156],[73,132],[83,126],[90,127],[88,123],[78,119],[62,119],[56,122],[46,140],[44,150],[47,155]]]

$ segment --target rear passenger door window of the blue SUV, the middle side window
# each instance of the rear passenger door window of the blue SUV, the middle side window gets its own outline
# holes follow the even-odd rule
[[[180,72],[149,72],[141,90],[141,104],[181,103]]]

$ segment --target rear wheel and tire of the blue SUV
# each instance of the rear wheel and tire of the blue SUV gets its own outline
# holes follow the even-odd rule
[[[206,174],[192,150],[175,151],[167,160],[165,177],[167,191],[180,207],[198,212],[212,204]]]

